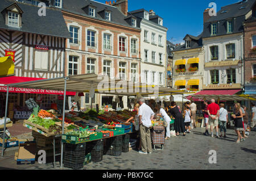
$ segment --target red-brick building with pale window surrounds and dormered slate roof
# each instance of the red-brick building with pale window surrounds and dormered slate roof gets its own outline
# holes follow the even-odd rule
[[[63,0],[55,4],[63,12],[71,39],[66,47],[66,75],[108,74],[140,82],[141,28],[127,16],[127,0],[100,3],[96,1]],[[89,94],[81,97],[81,108],[112,104],[113,96]],[[71,98],[69,98],[71,101]],[[91,102],[92,101],[92,102]],[[121,97],[123,107],[127,96]]]

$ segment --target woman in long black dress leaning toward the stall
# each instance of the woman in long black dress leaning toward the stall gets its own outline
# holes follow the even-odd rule
[[[183,121],[183,116],[179,111],[179,108],[177,108],[175,102],[171,102],[171,106],[172,107],[170,109],[170,113],[175,118],[174,128],[175,128],[176,135],[179,136],[179,133],[183,133],[183,136],[185,136],[186,134],[185,134],[185,125]]]

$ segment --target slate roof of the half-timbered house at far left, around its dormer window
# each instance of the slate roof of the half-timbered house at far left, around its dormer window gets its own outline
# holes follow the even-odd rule
[[[15,28],[7,26],[5,23],[5,15],[3,15],[3,10],[16,3],[23,11],[22,14],[22,27]],[[39,7],[34,5],[28,5],[25,3],[19,3],[14,0],[0,0],[0,28],[6,30],[14,30],[21,32],[30,32],[40,35],[49,35],[56,37],[70,37],[70,33],[66,26],[63,14],[60,10],[50,9],[47,7],[46,16],[39,16]]]

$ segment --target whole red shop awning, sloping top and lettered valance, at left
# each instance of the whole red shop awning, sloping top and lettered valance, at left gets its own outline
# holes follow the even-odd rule
[[[0,78],[0,92],[7,92],[7,84],[11,83],[19,83],[19,82],[30,82],[30,81],[38,81],[45,78],[33,78],[33,77],[1,77]],[[42,89],[26,89],[26,88],[18,88],[18,87],[9,87],[9,92],[13,93],[27,93],[27,94],[53,94],[53,95],[63,95],[64,91],[55,91],[55,90],[42,90]],[[76,92],[66,92],[67,95],[74,96]]]

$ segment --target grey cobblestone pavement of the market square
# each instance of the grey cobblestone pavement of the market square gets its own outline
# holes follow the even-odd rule
[[[246,141],[237,144],[236,133],[228,129],[228,138],[212,138],[203,135],[204,128],[193,129],[187,136],[179,136],[166,141],[164,150],[154,150],[142,155],[131,150],[120,157],[104,155],[100,163],[89,163],[85,170],[218,170],[256,169],[256,132],[250,132]],[[209,150],[217,151],[217,164],[210,164]],[[0,160],[0,169],[53,169],[52,163],[16,165],[14,158]],[[60,169],[56,162],[55,169]],[[67,168],[64,168],[67,169]],[[67,169],[68,170],[68,169]]]

